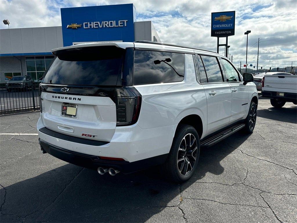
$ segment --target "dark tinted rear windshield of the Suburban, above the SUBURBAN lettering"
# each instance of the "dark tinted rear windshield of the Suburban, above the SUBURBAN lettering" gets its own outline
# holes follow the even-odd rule
[[[124,49],[83,47],[56,54],[42,83],[114,86],[121,73]]]

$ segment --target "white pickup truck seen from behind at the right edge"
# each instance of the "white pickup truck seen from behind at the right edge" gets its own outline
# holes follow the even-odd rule
[[[276,108],[281,108],[286,102],[297,104],[297,76],[265,75],[262,97],[270,98],[271,105]]]

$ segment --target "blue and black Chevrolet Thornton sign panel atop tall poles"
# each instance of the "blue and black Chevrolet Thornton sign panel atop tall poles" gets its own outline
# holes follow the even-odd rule
[[[235,11],[211,13],[211,36],[227,37],[235,34]]]

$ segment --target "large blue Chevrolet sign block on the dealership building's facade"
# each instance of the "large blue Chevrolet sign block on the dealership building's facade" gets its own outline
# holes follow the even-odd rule
[[[133,42],[133,4],[61,8],[63,45],[81,42]]]

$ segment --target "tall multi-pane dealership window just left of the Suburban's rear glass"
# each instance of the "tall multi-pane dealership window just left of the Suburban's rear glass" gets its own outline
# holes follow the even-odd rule
[[[34,81],[42,77],[55,56],[26,56],[27,75]]]

